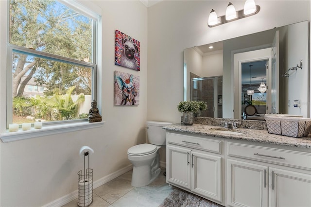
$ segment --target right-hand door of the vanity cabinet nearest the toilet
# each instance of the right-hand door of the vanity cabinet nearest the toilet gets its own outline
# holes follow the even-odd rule
[[[191,153],[192,191],[222,202],[221,157],[197,152]]]

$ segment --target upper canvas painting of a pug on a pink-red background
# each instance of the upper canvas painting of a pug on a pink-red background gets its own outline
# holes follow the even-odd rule
[[[140,42],[116,30],[115,65],[140,70]]]

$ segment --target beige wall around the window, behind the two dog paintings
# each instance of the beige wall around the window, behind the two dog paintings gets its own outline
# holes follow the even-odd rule
[[[0,1],[0,108],[6,107],[5,36],[6,16]],[[102,8],[103,47],[98,75],[103,127],[53,136],[1,143],[1,204],[10,207],[38,207],[77,190],[77,173],[83,169],[79,150],[83,145],[95,151],[90,156],[94,181],[130,166],[129,147],[145,142],[147,111],[147,8],[140,1],[82,1],[88,7]],[[129,11],[131,18],[129,19]],[[4,28],[4,29],[3,29]],[[140,71],[114,65],[115,30],[140,41]],[[114,71],[140,77],[138,106],[114,106]],[[4,78],[3,78],[4,76]],[[5,110],[0,112],[5,127]]]

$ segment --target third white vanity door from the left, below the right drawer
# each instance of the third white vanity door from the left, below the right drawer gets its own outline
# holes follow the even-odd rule
[[[268,167],[227,160],[227,203],[232,207],[268,206]]]

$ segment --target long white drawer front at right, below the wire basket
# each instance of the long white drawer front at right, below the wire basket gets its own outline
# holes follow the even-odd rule
[[[311,170],[311,153],[228,142],[228,155]]]

